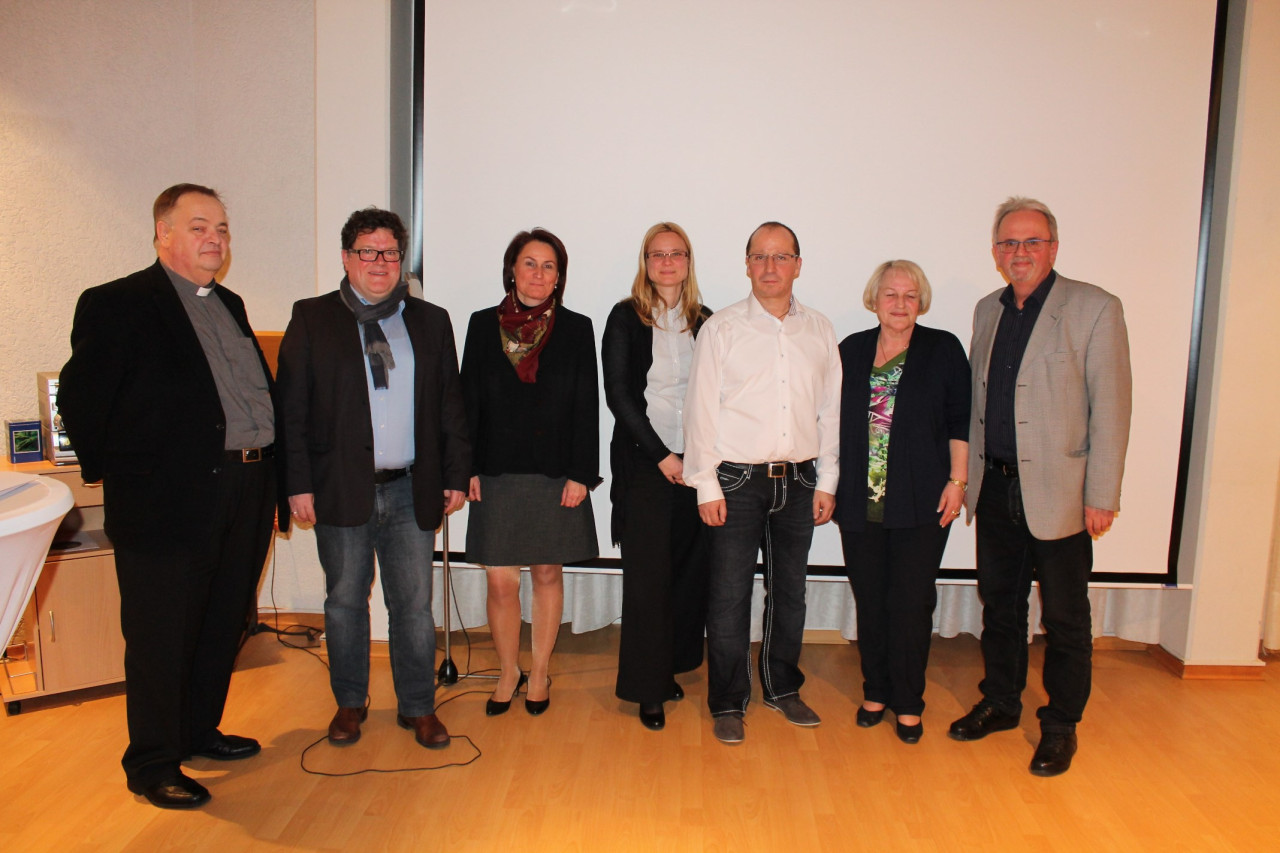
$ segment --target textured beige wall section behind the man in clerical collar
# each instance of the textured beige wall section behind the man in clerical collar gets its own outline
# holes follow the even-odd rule
[[[0,0],[0,418],[36,416],[79,292],[155,260],[173,183],[223,193],[256,328],[315,292],[314,19],[307,0]]]

